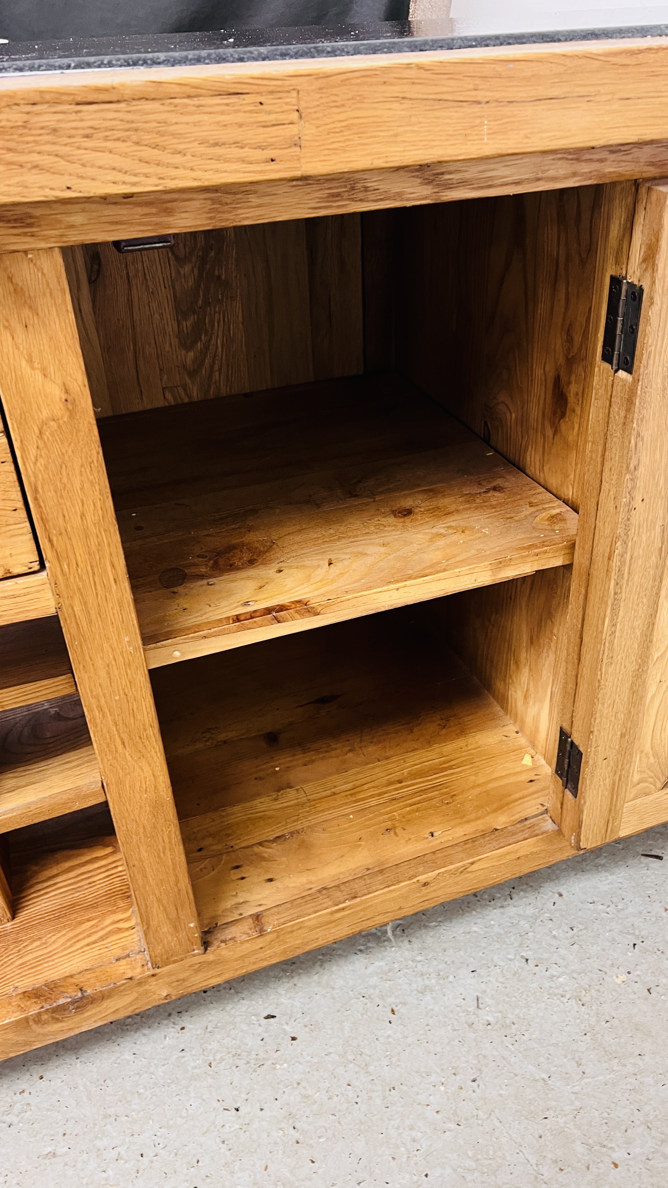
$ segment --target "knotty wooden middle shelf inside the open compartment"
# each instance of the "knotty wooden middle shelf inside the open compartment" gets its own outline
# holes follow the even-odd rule
[[[396,375],[100,435],[150,666],[573,560],[575,513]]]

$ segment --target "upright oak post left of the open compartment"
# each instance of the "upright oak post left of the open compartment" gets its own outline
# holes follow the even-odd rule
[[[198,947],[61,253],[0,258],[2,399],[150,960]]]

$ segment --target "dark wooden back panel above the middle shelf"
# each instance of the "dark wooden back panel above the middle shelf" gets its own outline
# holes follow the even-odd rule
[[[363,371],[359,216],[68,257],[99,416]]]

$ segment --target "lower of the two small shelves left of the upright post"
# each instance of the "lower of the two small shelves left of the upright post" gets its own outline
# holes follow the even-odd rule
[[[0,714],[0,833],[103,801],[76,694]]]

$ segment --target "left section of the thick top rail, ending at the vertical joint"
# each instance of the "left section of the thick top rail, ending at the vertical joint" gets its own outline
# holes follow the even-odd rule
[[[176,87],[151,88],[155,97],[133,88],[125,97],[112,97],[107,88],[95,88],[95,97],[84,103],[77,88],[69,97],[58,88],[49,94],[49,87],[39,97],[19,97],[4,87],[0,109],[12,162],[8,156],[11,176],[0,187],[0,202],[126,194],[146,190],[150,179],[158,183],[150,189],[159,190],[298,177],[294,86],[195,84],[184,91],[175,81]]]

